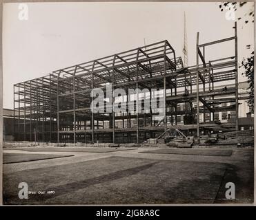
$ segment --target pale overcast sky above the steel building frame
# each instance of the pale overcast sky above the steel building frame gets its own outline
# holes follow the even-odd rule
[[[252,5],[239,9],[236,19]],[[234,21],[219,3],[28,3],[27,21],[19,20],[19,3],[4,3],[3,107],[13,108],[14,83],[143,46],[144,38],[146,44],[166,39],[183,56],[184,12],[189,65],[195,65],[197,32],[199,43],[234,36]],[[251,52],[246,45],[253,45],[253,23],[238,21],[237,31],[242,61]],[[206,61],[234,55],[233,44],[209,49]]]

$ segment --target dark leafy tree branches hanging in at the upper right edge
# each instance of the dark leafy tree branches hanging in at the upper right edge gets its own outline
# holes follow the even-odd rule
[[[227,10],[236,11],[237,8],[242,8],[246,5],[246,2],[224,2],[219,4],[219,8],[221,12],[226,8]],[[237,18],[238,21],[242,22],[246,25],[248,22],[254,23],[254,8],[250,8],[249,11],[244,14],[244,18]],[[250,50],[251,45],[246,45],[246,48]],[[239,68],[243,68],[242,75],[247,77],[248,89],[249,89],[249,100],[248,104],[252,108],[254,112],[254,51],[250,53],[251,56],[247,58],[243,58],[241,65]]]

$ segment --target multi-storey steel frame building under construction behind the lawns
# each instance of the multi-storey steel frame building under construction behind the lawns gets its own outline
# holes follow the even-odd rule
[[[211,129],[214,113],[234,111],[234,122],[221,126],[238,130],[237,25],[235,35],[199,44],[196,64],[184,67],[168,41],[161,41],[59,69],[48,76],[14,85],[14,137],[17,141],[38,142],[144,142],[168,128],[179,128],[197,137]],[[233,42],[233,54],[206,61],[208,46]],[[216,89],[219,82],[233,80],[234,87]],[[164,120],[155,122],[150,111],[92,113],[93,88],[163,88]],[[225,83],[224,83],[225,84]],[[150,92],[150,97],[152,93]],[[113,104],[115,100],[112,100]],[[229,106],[220,107],[221,103]],[[183,103],[184,109],[177,109]],[[200,122],[197,115],[204,115]],[[206,121],[206,114],[210,119]],[[184,123],[177,123],[183,115]]]

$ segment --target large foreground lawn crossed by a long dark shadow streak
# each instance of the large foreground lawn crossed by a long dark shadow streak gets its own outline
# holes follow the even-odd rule
[[[213,203],[228,164],[132,157],[23,170],[3,175],[5,204]],[[18,185],[55,194],[19,199]]]

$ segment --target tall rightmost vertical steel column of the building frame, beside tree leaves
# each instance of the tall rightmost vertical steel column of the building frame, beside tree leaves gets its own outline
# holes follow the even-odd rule
[[[237,22],[235,22],[235,131],[239,130],[238,124],[238,64],[237,64]]]

